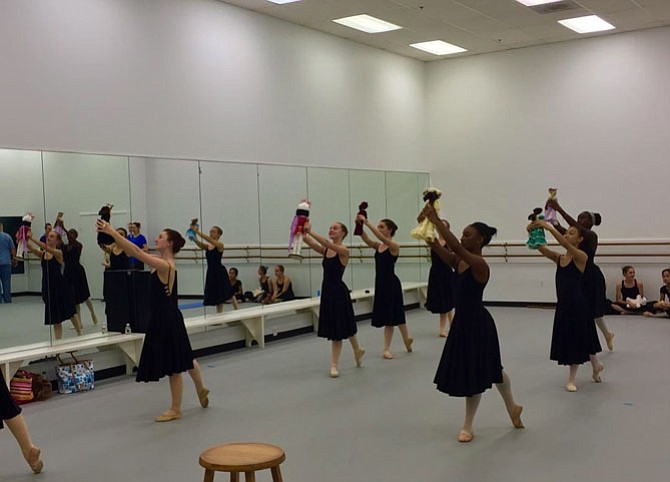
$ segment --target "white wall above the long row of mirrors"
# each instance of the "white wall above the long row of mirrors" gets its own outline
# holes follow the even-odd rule
[[[5,0],[0,146],[422,167],[424,65],[216,0]]]

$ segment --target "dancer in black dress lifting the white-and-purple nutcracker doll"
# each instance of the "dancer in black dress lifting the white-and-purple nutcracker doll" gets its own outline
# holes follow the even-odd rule
[[[305,223],[303,240],[317,253],[323,255],[323,283],[321,284],[321,302],[319,304],[320,338],[327,338],[331,344],[330,376],[340,376],[338,364],[342,354],[342,340],[348,339],[354,350],[356,366],[363,362],[363,350],[358,344],[358,327],[354,320],[354,307],[351,304],[349,288],[342,281],[342,275],[349,263],[349,248],[344,245],[347,227],[335,222],[328,230],[328,239],[312,231],[309,221]]]

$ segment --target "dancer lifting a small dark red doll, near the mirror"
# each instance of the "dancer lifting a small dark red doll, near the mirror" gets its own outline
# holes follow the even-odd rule
[[[384,349],[382,357],[387,360],[393,358],[391,341],[393,327],[397,326],[402,335],[405,349],[412,351],[414,340],[409,336],[405,322],[405,304],[402,297],[402,286],[395,274],[395,263],[398,260],[400,246],[393,241],[393,235],[398,225],[390,219],[382,219],[375,227],[365,216],[359,214],[356,222],[367,227],[379,242],[370,239],[364,229],[361,230],[361,239],[375,250],[375,298],[372,305],[372,326],[384,327]]]

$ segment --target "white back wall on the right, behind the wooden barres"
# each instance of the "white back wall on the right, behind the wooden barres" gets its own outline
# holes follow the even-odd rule
[[[528,213],[556,186],[568,212],[602,213],[601,241],[668,239],[668,45],[670,28],[659,28],[428,64],[429,169],[446,217],[525,240]],[[638,272],[649,270],[656,294],[668,262],[597,261],[612,296],[623,264],[651,262]],[[496,265],[487,297],[553,300],[553,275],[547,283],[542,271]]]

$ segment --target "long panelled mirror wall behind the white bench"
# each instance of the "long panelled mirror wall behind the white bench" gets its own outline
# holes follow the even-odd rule
[[[352,246],[351,260],[344,281],[350,289],[374,286],[374,251],[353,235],[354,219],[362,201],[367,201],[373,223],[390,218],[399,226],[395,239],[402,246],[396,269],[400,279],[425,281],[428,275],[426,249],[409,237],[423,204],[421,192],[429,184],[427,173],[11,149],[0,150],[0,168],[7,173],[0,178],[1,192],[7,194],[0,217],[15,224],[18,220],[20,225],[21,216],[32,212],[33,234],[39,238],[45,222],[53,225],[62,212],[63,227],[77,231],[82,245],[81,265],[98,320],[94,325],[88,305],[80,305],[85,337],[99,336],[103,324],[109,331],[122,331],[124,317],[141,318],[146,313],[142,301],[149,267],[139,273],[127,269],[110,273],[103,266],[109,262],[109,253],[105,256],[98,247],[95,220],[107,203],[113,204],[111,224],[128,231],[131,222],[139,223],[149,249],[166,227],[187,238],[175,260],[179,306],[187,321],[235,309],[230,301],[203,306],[207,261],[202,244],[211,243],[202,235],[211,237],[212,230],[218,232],[216,228],[222,230],[218,238],[224,244],[222,264],[228,271],[237,270],[247,298],[258,293],[259,268],[266,266],[267,275],[275,279],[279,265],[291,280],[297,298],[318,295],[321,256],[307,246],[303,246],[302,259],[288,256],[289,227],[302,199],[311,202],[310,219],[315,232],[326,237],[335,221],[342,221],[349,228],[345,242]],[[196,218],[199,233],[195,238],[200,246],[187,235]],[[134,229],[137,236],[137,228]],[[105,279],[111,280],[114,287],[109,292],[104,289]],[[0,350],[39,342],[58,343],[53,331],[44,325],[39,258],[29,255],[13,275],[12,283],[18,296],[14,296],[11,305],[0,306]],[[103,289],[110,299],[107,303],[102,301]],[[116,304],[119,296],[127,298],[125,304]],[[237,303],[237,309],[258,306],[262,305],[248,299]],[[132,311],[130,315],[128,310]],[[77,336],[70,321],[62,326],[63,340]],[[205,329],[216,330],[220,326],[202,328]]]

